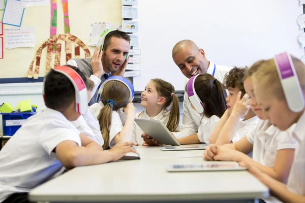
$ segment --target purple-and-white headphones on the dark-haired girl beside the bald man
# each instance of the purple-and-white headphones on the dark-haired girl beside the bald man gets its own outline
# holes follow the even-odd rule
[[[204,105],[202,104],[199,96],[197,95],[197,93],[195,91],[195,80],[199,75],[200,74],[193,76],[189,80],[189,82],[187,84],[187,92],[188,92],[189,99],[190,99],[192,105],[194,106],[194,108],[196,109],[196,111],[198,113],[202,114],[204,112]]]

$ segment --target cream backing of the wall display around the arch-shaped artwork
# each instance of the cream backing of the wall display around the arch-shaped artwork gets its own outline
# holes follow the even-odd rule
[[[56,2],[56,0],[52,1]],[[67,29],[67,27],[64,26],[64,20],[67,18],[64,16],[65,6],[63,6],[62,2],[65,2],[65,0],[57,0],[56,4],[57,35],[64,35],[65,28]],[[96,48],[95,46],[88,46],[92,23],[108,22],[120,25],[123,20],[123,18],[121,18],[121,0],[66,0],[66,2],[68,2],[70,33],[87,46],[90,56],[92,56]],[[3,59],[0,59],[0,80],[7,79],[5,81],[13,81],[27,78],[29,66],[31,65],[37,50],[39,50],[43,43],[50,38],[51,10],[51,5],[28,7],[24,9],[21,27],[34,27],[35,46],[14,49],[4,48]],[[0,21],[3,13],[4,11],[1,10]],[[6,28],[17,27],[4,24],[3,29],[5,30]],[[5,40],[5,34],[0,37],[3,37]],[[65,44],[63,44],[63,46],[65,46]],[[63,52],[65,52],[65,48],[62,48],[62,53]],[[72,49],[71,52],[72,58],[74,58],[74,49]],[[80,58],[84,57],[85,52],[83,49],[80,49]],[[45,76],[46,59],[47,49],[44,48],[41,53],[39,78],[38,80],[31,79],[31,82],[41,82],[41,79]],[[52,60],[56,60],[55,54],[52,55]],[[60,64],[66,64],[65,54],[61,54],[61,57],[57,60],[60,60]]]

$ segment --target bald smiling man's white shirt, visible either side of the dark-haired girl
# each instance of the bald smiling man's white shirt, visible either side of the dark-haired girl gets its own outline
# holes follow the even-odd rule
[[[215,73],[214,73],[214,67],[215,67]],[[210,61],[210,64],[207,69],[207,73],[211,75],[213,75],[214,73],[214,77],[217,80],[219,80],[221,83],[223,83],[226,73],[228,73],[231,69],[232,67],[215,65]],[[188,81],[189,79],[186,80]],[[197,133],[198,128],[200,126],[200,117],[201,117],[200,114],[198,114],[194,109],[192,109],[191,102],[188,99],[188,93],[185,92],[184,101],[183,101],[182,124],[180,131],[174,132],[174,136],[177,139],[179,139]]]

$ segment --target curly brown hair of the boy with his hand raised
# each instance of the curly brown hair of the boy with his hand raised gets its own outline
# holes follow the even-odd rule
[[[225,75],[224,85],[228,89],[229,87],[235,88],[237,87],[239,91],[241,91],[241,97],[246,94],[246,90],[243,87],[243,77],[245,76],[247,69],[242,67],[233,67]]]

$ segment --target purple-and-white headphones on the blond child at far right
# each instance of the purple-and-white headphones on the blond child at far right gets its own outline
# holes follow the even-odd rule
[[[288,108],[296,113],[301,112],[305,107],[304,95],[290,54],[284,52],[276,55],[274,59]]]

